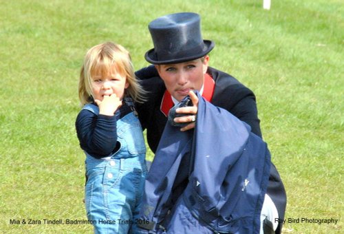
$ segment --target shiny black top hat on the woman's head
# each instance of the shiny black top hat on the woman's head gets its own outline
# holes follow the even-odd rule
[[[159,17],[149,23],[154,48],[144,58],[153,64],[192,61],[213,50],[213,41],[203,40],[200,15],[181,12]]]

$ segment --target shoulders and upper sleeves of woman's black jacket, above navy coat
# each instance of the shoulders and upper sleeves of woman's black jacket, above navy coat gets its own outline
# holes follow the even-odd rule
[[[252,133],[261,137],[255,94],[229,74],[212,67],[208,67],[207,73],[215,81],[211,103],[226,109],[233,116],[250,125]],[[144,90],[149,92],[147,101],[143,104],[138,103],[136,110],[142,128],[147,129],[149,147],[155,152],[167,121],[166,116],[160,110],[166,87],[156,70],[152,70],[152,67],[136,72],[136,76],[141,81]]]

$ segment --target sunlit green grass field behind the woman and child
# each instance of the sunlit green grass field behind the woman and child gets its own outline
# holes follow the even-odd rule
[[[181,11],[201,14],[204,39],[216,43],[211,65],[257,96],[294,220],[284,233],[343,233],[343,1],[272,1],[271,10],[262,0],[0,3],[0,233],[92,233],[87,224],[44,224],[86,220],[74,127],[83,56],[115,41],[146,66],[148,23]]]

